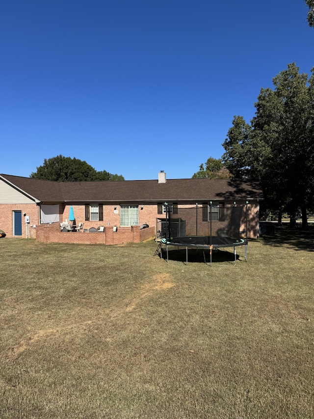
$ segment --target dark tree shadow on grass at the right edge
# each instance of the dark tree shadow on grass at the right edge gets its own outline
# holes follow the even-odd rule
[[[314,251],[314,226],[310,225],[308,230],[302,230],[301,227],[276,225],[275,236],[265,235],[262,239],[269,246],[289,246],[295,250]]]

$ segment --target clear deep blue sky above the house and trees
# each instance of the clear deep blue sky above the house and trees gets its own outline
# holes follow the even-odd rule
[[[0,16],[0,173],[85,160],[126,180],[189,178],[234,115],[296,62],[303,0],[10,0]]]

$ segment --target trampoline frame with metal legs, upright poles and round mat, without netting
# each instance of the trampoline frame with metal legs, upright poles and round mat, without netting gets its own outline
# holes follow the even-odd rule
[[[211,211],[211,205],[212,202],[210,202],[210,211]],[[245,258],[245,262],[247,262],[247,246],[248,246],[248,240],[247,240],[247,205],[248,205],[248,201],[246,201],[246,205],[245,205],[245,226],[246,226],[246,238],[242,239],[242,238],[233,238],[233,237],[217,237],[217,236],[211,236],[211,217],[210,217],[210,236],[186,236],[186,237],[176,237],[173,239],[169,239],[167,237],[167,233],[166,233],[166,237],[162,238],[160,240],[159,243],[159,249],[160,249],[160,253],[161,253],[161,257],[162,257],[162,245],[165,246],[166,248],[166,260],[167,262],[169,262],[169,246],[174,246],[177,247],[178,249],[180,248],[185,248],[186,249],[186,265],[188,263],[188,249],[201,249],[203,250],[203,255],[204,255],[204,261],[206,264],[206,257],[205,257],[205,251],[209,251],[210,254],[210,266],[212,266],[212,249],[219,249],[219,248],[227,248],[227,247],[233,247],[234,248],[234,255],[235,255],[235,263],[236,264],[236,248],[238,246],[244,246],[244,258]],[[168,203],[165,202],[164,206],[166,208],[166,226],[167,226],[167,219],[168,219]],[[197,206],[197,204],[196,204]],[[234,203],[235,206],[235,203]],[[167,227],[166,227],[166,232],[167,232]],[[183,240],[185,239],[185,240]],[[191,240],[190,243],[188,243],[188,240]],[[195,243],[192,243],[192,242]],[[197,242],[200,243],[197,243]],[[209,243],[206,243],[209,242]],[[186,242],[186,243],[183,243]],[[203,243],[202,243],[203,242]],[[224,243],[225,242],[225,243]],[[158,249],[157,249],[158,250]]]

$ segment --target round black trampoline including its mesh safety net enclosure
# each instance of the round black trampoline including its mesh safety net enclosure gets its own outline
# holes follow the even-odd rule
[[[188,263],[188,249],[202,250],[206,263],[206,251],[210,255],[212,266],[212,250],[218,248],[234,248],[236,262],[236,247],[244,246],[244,257],[247,261],[247,204],[222,205],[212,202],[203,203],[195,207],[176,206],[172,208],[164,204],[165,219],[161,220],[160,252],[165,246],[166,260],[169,261],[169,247],[186,249],[186,264]],[[172,237],[172,232],[181,235]],[[191,234],[189,234],[191,233]],[[194,233],[194,234],[193,234]],[[198,234],[199,233],[199,234]]]

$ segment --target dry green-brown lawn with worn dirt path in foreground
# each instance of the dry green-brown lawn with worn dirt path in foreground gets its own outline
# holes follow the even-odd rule
[[[212,267],[0,239],[0,418],[313,418],[313,238]]]

